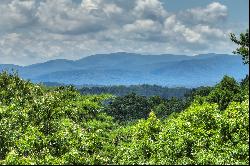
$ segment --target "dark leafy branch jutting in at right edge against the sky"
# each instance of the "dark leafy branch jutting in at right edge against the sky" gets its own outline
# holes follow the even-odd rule
[[[230,39],[239,45],[233,53],[242,55],[243,63],[249,64],[249,30],[247,29],[245,33],[241,33],[239,38],[230,33]]]

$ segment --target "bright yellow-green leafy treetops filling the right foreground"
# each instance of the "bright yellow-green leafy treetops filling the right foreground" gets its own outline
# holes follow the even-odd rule
[[[154,113],[130,127],[129,141],[120,141],[118,164],[248,164],[248,100],[217,104],[193,103],[164,122]]]

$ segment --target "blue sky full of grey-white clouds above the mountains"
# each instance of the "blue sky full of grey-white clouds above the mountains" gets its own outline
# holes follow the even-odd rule
[[[1,0],[0,64],[98,53],[197,55],[236,48],[249,0]]]

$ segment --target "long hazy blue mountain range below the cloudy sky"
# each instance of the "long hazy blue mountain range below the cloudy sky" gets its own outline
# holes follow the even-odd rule
[[[237,80],[249,72],[241,56],[227,54],[140,55],[97,54],[79,60],[57,59],[29,66],[0,65],[16,69],[33,82],[75,85],[157,84],[169,87],[214,85],[224,75]]]

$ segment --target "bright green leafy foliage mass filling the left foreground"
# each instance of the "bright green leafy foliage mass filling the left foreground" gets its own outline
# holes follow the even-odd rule
[[[101,163],[99,153],[113,127],[101,112],[108,95],[81,96],[72,87],[46,89],[0,75],[2,164]]]

